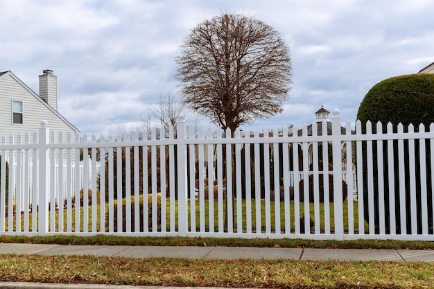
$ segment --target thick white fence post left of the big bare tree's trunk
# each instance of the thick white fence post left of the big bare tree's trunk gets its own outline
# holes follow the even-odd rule
[[[178,233],[186,236],[188,229],[187,208],[187,155],[184,116],[180,116],[176,124],[177,153],[177,199],[178,199]]]

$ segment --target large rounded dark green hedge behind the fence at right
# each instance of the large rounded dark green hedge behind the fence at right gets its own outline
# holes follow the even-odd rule
[[[386,126],[388,123],[392,123],[394,126],[394,131],[397,131],[397,125],[399,123],[403,124],[404,131],[408,130],[408,125],[413,124],[415,126],[415,131],[418,131],[419,124],[423,123],[425,125],[425,129],[428,130],[429,125],[434,122],[434,74],[410,74],[404,76],[397,76],[393,78],[388,78],[383,80],[370,91],[367,92],[365,98],[358,109],[357,119],[362,123],[362,131],[365,132],[365,124],[367,121],[371,121],[373,124],[372,131],[376,132],[376,123],[381,121],[383,125],[383,132],[386,131]],[[426,140],[428,144],[428,140]],[[388,179],[388,148],[387,144],[383,142],[383,168],[384,174],[381,178],[385,179],[390,183],[394,183],[394,201],[395,201],[395,222],[397,224],[397,233],[407,233],[410,234],[410,224],[411,224],[411,211],[410,204],[408,202],[408,198],[410,195],[416,195],[417,198],[417,216],[418,219],[418,234],[422,231],[422,222],[421,218],[428,218],[428,227],[432,233],[433,231],[433,215],[432,213],[428,213],[428,216],[422,216],[420,207],[421,204],[421,175],[420,175],[420,160],[419,160],[419,140],[415,140],[415,151],[409,154],[408,151],[408,141],[404,142],[404,161],[403,163],[398,163],[398,152],[397,152],[397,141],[394,141],[394,179]],[[378,166],[377,166],[377,147],[376,141],[373,143],[373,161],[374,163],[374,175],[372,179],[374,179],[374,223],[376,227],[376,232],[379,231],[379,186],[377,184],[378,181]],[[428,211],[431,211],[433,207],[433,202],[431,202],[431,198],[433,198],[432,192],[432,184],[431,184],[431,151],[429,146],[426,146],[426,167],[427,167],[427,182],[426,186],[428,186]],[[415,192],[410,191],[409,180],[410,180],[410,168],[409,168],[409,158],[416,159],[416,184],[417,189]],[[369,220],[368,207],[367,203],[367,155],[366,155],[366,143],[363,143],[363,200],[365,207],[365,219]],[[401,226],[400,216],[399,216],[399,175],[397,172],[397,168],[399,166],[403,166],[406,172],[406,227]],[[360,168],[358,168],[360,169]],[[412,172],[413,173],[413,172]],[[385,184],[385,204],[388,204],[389,196],[388,196],[389,185],[386,182]],[[390,219],[390,207],[385,207],[385,219],[386,219],[386,234],[390,231],[390,223],[388,220]],[[413,216],[413,218],[415,217]]]

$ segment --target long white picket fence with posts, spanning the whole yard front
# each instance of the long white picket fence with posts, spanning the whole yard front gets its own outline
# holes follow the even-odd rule
[[[0,234],[434,240],[434,126],[331,127],[2,137]]]

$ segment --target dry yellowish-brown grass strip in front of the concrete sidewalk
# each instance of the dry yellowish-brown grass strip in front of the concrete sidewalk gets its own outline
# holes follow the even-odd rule
[[[243,288],[433,288],[432,263],[0,256],[0,281]]]

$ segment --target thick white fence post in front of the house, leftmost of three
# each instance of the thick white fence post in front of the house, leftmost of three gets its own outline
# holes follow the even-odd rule
[[[46,127],[47,121],[41,121],[39,129],[39,227],[37,229],[39,235],[45,235],[49,229],[49,155],[46,144],[49,142],[49,129]]]

